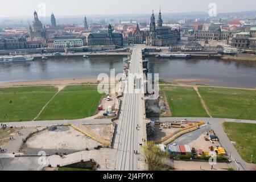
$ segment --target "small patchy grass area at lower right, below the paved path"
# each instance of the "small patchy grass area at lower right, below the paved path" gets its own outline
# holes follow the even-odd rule
[[[224,130],[231,141],[236,142],[235,147],[245,162],[256,163],[256,124],[224,122]]]

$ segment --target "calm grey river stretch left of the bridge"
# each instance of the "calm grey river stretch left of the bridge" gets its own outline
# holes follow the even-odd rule
[[[125,57],[119,56],[92,57],[89,59],[72,57],[1,63],[0,82],[93,78],[100,73],[109,75],[110,69],[114,68],[115,72],[122,72],[125,59]]]

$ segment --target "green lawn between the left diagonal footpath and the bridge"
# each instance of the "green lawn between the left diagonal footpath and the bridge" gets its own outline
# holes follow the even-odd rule
[[[66,86],[47,105],[38,120],[80,119],[96,113],[102,94],[97,86]]]

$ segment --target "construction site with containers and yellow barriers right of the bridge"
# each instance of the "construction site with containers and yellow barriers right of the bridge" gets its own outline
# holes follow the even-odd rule
[[[211,156],[229,163],[229,156],[217,135],[203,121],[148,122],[148,140],[175,160],[200,160],[208,162]]]

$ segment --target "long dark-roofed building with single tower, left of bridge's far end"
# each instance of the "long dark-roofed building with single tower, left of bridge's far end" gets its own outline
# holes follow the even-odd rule
[[[88,46],[98,45],[115,45],[123,46],[123,35],[121,33],[113,33],[112,26],[109,24],[108,33],[92,33],[87,38]]]

